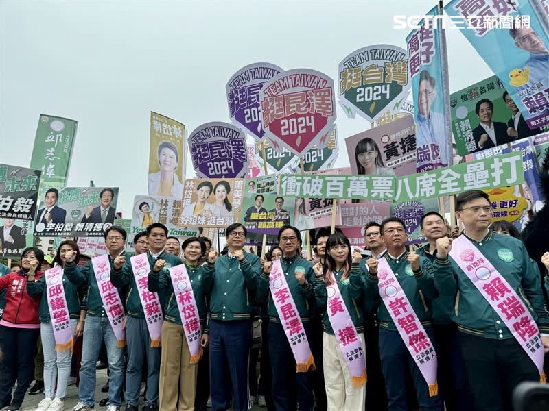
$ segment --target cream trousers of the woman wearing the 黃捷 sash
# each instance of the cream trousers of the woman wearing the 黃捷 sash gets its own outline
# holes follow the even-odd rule
[[[366,355],[364,334],[358,333],[362,352]],[[338,341],[333,334],[324,333],[323,336],[324,381],[329,411],[364,410],[366,398],[366,384],[362,387],[353,387],[351,373],[343,352],[338,347]]]

